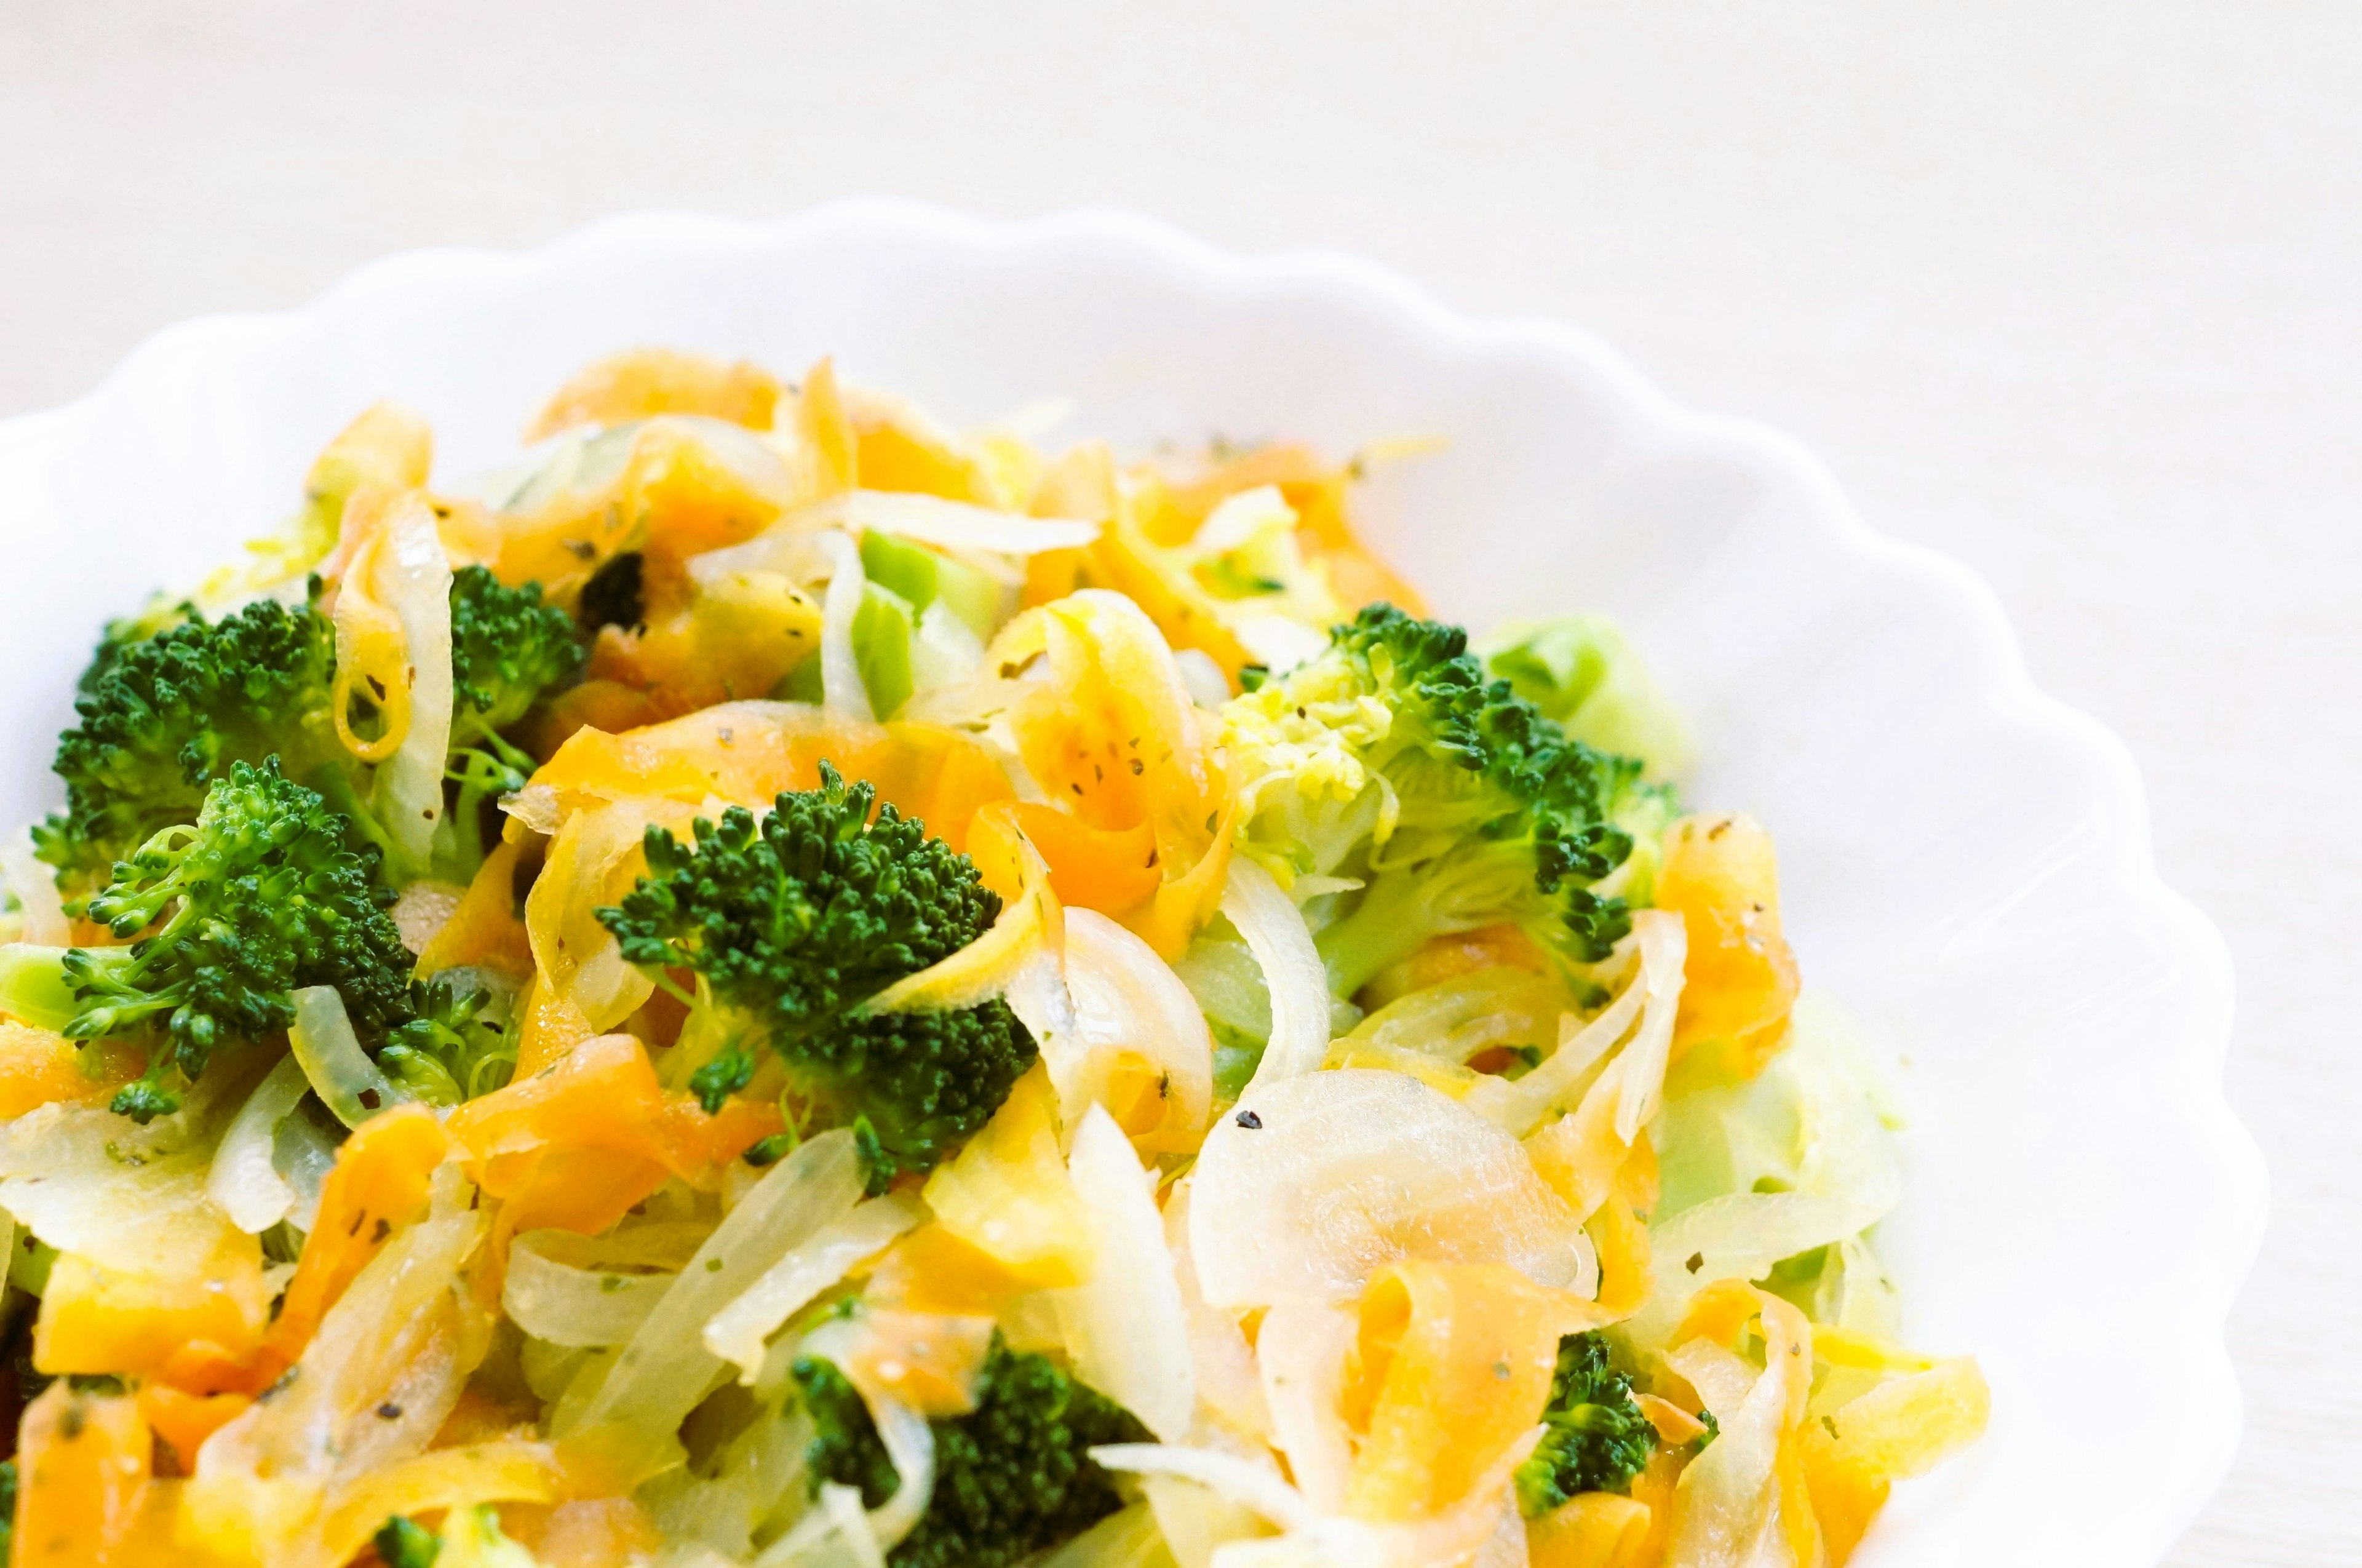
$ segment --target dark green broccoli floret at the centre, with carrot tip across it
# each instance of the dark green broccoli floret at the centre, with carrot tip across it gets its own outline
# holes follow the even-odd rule
[[[1001,1001],[860,1015],[895,980],[992,926],[976,864],[876,791],[820,765],[822,786],[694,824],[694,848],[647,829],[650,874],[598,919],[659,985],[697,973],[690,1006],[725,1044],[692,1074],[709,1110],[777,1056],[813,1126],[855,1126],[881,1169],[924,1171],[983,1126],[1035,1060]]]

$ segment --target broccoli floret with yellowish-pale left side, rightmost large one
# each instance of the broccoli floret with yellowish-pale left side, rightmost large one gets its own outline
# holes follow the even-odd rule
[[[1571,963],[1630,930],[1592,883],[1632,852],[1613,812],[1639,765],[1486,680],[1457,626],[1370,605],[1320,656],[1231,699],[1224,734],[1240,848],[1287,881],[1363,883],[1318,935],[1344,997],[1455,930],[1516,923]]]

